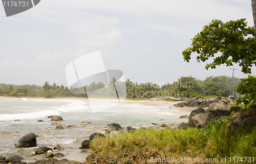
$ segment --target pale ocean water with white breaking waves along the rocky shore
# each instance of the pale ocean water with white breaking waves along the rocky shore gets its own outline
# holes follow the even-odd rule
[[[111,106],[113,102],[95,101],[101,108]],[[169,125],[170,123],[187,122],[180,119],[181,115],[189,115],[190,111],[181,110],[173,104],[163,103],[118,103],[117,105],[97,113],[92,113],[88,100],[81,99],[29,99],[29,98],[0,98],[0,155],[21,155],[26,162],[43,159],[43,155],[30,155],[40,146],[53,148],[59,144],[65,150],[62,158],[85,161],[88,153],[80,153],[78,149],[83,140],[89,140],[94,132],[99,132],[110,123],[118,123],[122,127],[149,127],[151,123]],[[61,116],[63,121],[57,121],[65,129],[55,129],[48,116]],[[37,122],[42,120],[43,122]],[[85,123],[81,123],[81,122]],[[65,127],[65,125],[74,127]],[[82,125],[83,127],[76,127]],[[49,129],[45,129],[49,128]],[[48,132],[46,132],[48,130]],[[50,131],[50,132],[49,132]],[[37,147],[16,148],[14,143],[28,133],[39,136]],[[61,158],[58,158],[61,159]]]

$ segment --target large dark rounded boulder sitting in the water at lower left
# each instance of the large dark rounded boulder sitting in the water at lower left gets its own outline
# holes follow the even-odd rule
[[[15,144],[15,147],[18,148],[29,148],[36,146],[36,138],[34,133],[29,133],[24,135],[21,139],[19,139]]]

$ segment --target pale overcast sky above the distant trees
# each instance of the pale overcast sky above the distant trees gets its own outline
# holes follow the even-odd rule
[[[98,50],[105,69],[120,70],[138,83],[232,76],[230,68],[244,78],[238,65],[206,70],[211,60],[198,63],[197,53],[189,63],[182,57],[212,19],[241,18],[254,26],[250,0],[42,0],[10,17],[0,4],[0,83],[68,86],[66,66]]]

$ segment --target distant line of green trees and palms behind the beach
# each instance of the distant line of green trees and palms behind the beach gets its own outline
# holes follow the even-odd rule
[[[110,85],[98,81],[81,88],[58,86],[47,81],[41,86],[36,85],[6,85],[0,84],[0,95],[2,96],[29,96],[29,97],[209,97],[236,94],[236,87],[240,83],[240,78],[229,76],[210,76],[204,80],[198,80],[192,76],[180,77],[172,84],[165,83],[161,87],[153,83],[133,83],[131,79],[117,81],[112,78]]]

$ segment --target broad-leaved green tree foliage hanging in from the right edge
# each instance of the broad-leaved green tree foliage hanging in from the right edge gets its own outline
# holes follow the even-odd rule
[[[191,59],[191,52],[197,52],[198,62],[214,58],[214,62],[206,64],[206,69],[216,68],[217,65],[222,64],[232,66],[233,63],[239,63],[242,72],[250,74],[251,67],[256,66],[255,30],[250,26],[247,28],[245,19],[230,20],[226,23],[221,20],[212,20],[191,40],[192,46],[182,52],[187,62]],[[217,52],[221,52],[221,55],[217,54],[216,57]],[[254,84],[256,84],[256,77],[248,76],[242,79],[242,83],[237,88],[237,92],[246,95],[238,101],[238,103],[246,104],[246,108],[255,107],[256,88],[252,87]]]

